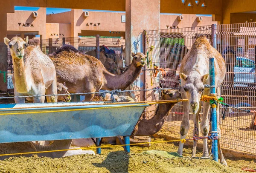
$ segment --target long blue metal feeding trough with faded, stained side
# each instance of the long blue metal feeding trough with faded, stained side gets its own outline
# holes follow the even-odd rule
[[[46,105],[81,105],[72,107],[32,108]],[[0,143],[22,141],[47,141],[76,138],[102,138],[130,136],[147,104],[87,105],[84,103],[4,104],[19,110],[0,110],[0,113],[28,112],[20,115],[0,115]],[[116,107],[127,106],[127,107]],[[24,109],[25,107],[31,107]],[[44,112],[44,110],[108,109]],[[31,113],[30,113],[31,112]]]

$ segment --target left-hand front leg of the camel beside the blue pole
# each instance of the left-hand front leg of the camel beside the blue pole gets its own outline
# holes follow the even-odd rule
[[[186,99],[186,96],[182,95],[182,98]],[[186,138],[186,134],[189,131],[189,102],[187,101],[183,102],[183,107],[184,107],[184,116],[180,124],[180,139]],[[179,155],[182,155],[183,145],[184,144],[180,141],[179,149],[177,151]]]

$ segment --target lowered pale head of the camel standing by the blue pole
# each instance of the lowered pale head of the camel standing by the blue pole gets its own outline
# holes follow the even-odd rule
[[[184,94],[186,94],[189,100],[189,110],[195,114],[199,109],[199,101],[209,74],[200,75],[199,72],[194,71],[190,72],[188,76],[180,73],[180,78]]]

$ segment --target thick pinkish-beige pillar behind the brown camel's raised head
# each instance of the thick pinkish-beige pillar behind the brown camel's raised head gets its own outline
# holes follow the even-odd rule
[[[160,0],[125,0],[125,64],[131,63],[131,52],[143,51],[143,30],[160,29]],[[144,52],[144,54],[146,54]],[[158,54],[159,55],[159,54]],[[159,57],[158,57],[159,58]],[[157,61],[158,62],[158,61]],[[145,71],[143,71],[145,72]],[[144,75],[131,84],[130,89],[143,89]],[[150,84],[149,84],[150,86]],[[131,97],[140,101],[143,92],[132,92]]]

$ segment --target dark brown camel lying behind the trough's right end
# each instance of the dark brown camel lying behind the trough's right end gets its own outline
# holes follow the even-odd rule
[[[161,100],[177,100],[181,98],[181,94],[179,91],[174,91],[171,89],[165,89],[162,91]],[[110,98],[109,100],[110,101]],[[126,100],[120,100],[120,102],[126,102]],[[169,115],[172,107],[177,104],[174,103],[164,103],[159,104],[155,114],[151,119],[140,118],[140,121],[137,123],[134,128],[134,132],[130,138],[130,144],[144,143],[150,142],[151,138],[149,136],[154,135],[159,132],[164,122],[166,121],[167,116]],[[119,144],[119,140],[117,137],[109,137],[103,138],[103,142],[108,142],[110,144]],[[72,142],[72,146],[77,147],[87,147],[93,145],[94,143],[90,139],[74,139]],[[140,147],[149,147],[150,144],[138,144]]]

